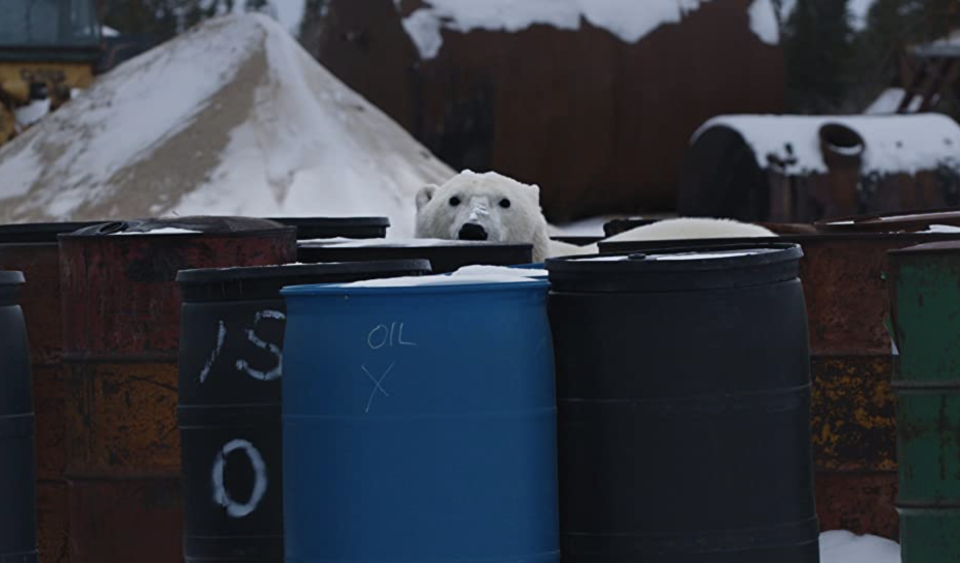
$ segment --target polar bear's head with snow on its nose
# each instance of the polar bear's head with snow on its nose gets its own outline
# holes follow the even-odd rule
[[[470,170],[420,189],[417,237],[532,244],[535,262],[547,256],[550,244],[539,187]]]

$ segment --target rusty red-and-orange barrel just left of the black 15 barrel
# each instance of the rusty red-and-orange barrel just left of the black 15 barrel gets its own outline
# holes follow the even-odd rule
[[[180,270],[292,262],[295,229],[184,217],[60,236],[74,563],[182,560]]]

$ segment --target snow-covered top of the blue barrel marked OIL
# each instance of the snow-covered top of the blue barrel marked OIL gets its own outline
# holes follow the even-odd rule
[[[436,274],[420,277],[372,279],[350,283],[309,284],[283,288],[287,297],[330,295],[393,295],[412,293],[465,293],[546,289],[550,283],[517,270],[515,273]]]

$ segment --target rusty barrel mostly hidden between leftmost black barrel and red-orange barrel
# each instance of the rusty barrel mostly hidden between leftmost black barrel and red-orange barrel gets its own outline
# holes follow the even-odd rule
[[[40,563],[65,563],[69,537],[57,235],[89,225],[91,223],[0,226],[0,270],[19,270],[30,280],[23,286],[20,307],[30,340],[36,413]]]

